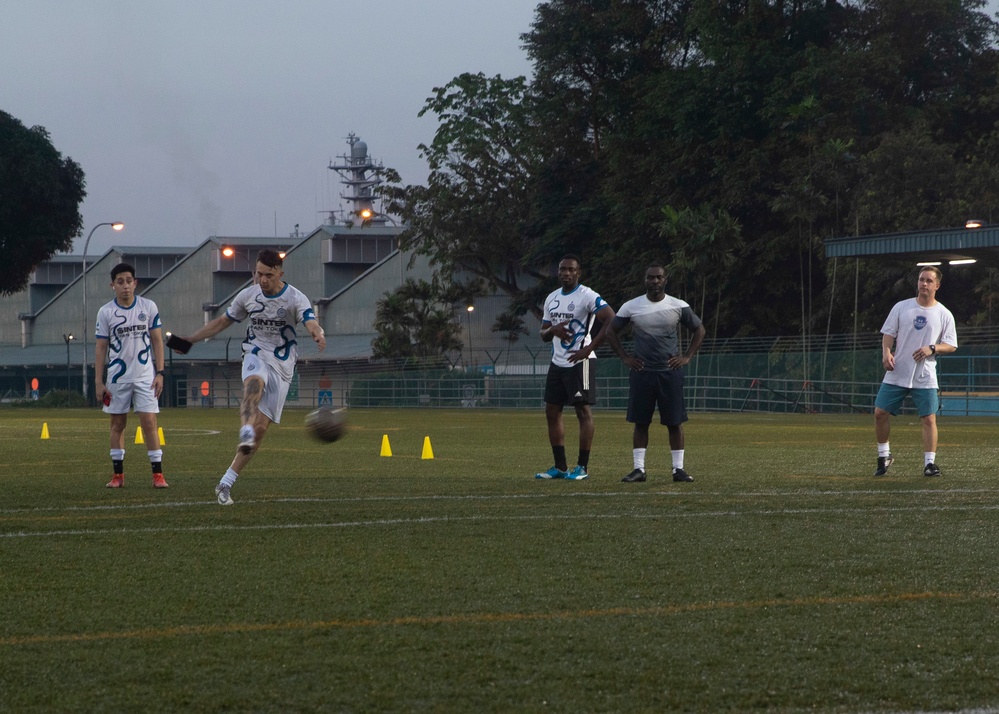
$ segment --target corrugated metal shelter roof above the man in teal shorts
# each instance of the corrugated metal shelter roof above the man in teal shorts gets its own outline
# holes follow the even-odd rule
[[[829,238],[827,258],[879,257],[913,263],[976,260],[999,266],[999,225]]]

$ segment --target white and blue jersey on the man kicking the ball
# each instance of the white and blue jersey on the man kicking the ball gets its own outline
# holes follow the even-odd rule
[[[243,353],[257,355],[290,382],[298,361],[295,325],[316,319],[309,298],[288,283],[277,295],[266,295],[259,285],[251,285],[240,291],[225,314],[234,322],[249,318]]]

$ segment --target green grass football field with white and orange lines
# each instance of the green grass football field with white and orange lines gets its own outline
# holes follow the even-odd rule
[[[0,411],[0,710],[999,707],[999,421],[941,420],[927,479],[897,418],[874,479],[871,417],[694,415],[694,483],[654,426],[623,484],[617,413],[583,482],[532,478],[540,410],[303,417],[223,508],[234,410],[160,415],[166,491],[132,438],[104,488],[98,411]]]

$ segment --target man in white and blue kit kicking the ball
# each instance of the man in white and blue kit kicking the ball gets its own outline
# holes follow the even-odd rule
[[[240,404],[239,446],[229,469],[223,474],[215,496],[220,505],[233,503],[230,490],[243,468],[260,446],[267,427],[281,421],[298,361],[295,325],[301,323],[319,350],[326,337],[316,321],[312,303],[304,293],[284,282],[284,261],[276,251],[257,255],[254,285],[240,291],[226,309],[190,337],[189,342],[213,337],[236,322],[248,320],[243,340],[243,400]]]

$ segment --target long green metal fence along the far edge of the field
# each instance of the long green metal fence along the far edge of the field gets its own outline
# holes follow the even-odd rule
[[[716,356],[717,357],[717,356]],[[856,354],[827,355],[827,369],[840,371]],[[865,351],[862,361],[880,363],[880,351]],[[793,361],[793,360],[792,360]],[[703,374],[703,364],[691,365],[686,380],[687,408],[691,412],[771,412],[802,414],[870,413],[883,373],[876,378],[803,379],[794,374],[786,358],[772,355],[726,355],[719,369],[742,374]],[[726,364],[727,363],[727,364]],[[939,360],[941,414],[949,416],[999,416],[999,373],[991,371],[999,358],[991,355],[946,357]],[[839,366],[837,366],[839,365]],[[698,367],[701,369],[699,370]],[[495,374],[479,370],[391,370],[319,374],[305,368],[296,374],[289,392],[289,407],[318,405],[389,408],[496,408],[541,409],[545,371]],[[701,372],[698,374],[698,372]],[[601,359],[596,380],[597,410],[624,411],[628,403],[627,369],[617,359]],[[183,378],[176,393],[188,394],[181,406],[234,408],[242,385],[238,370],[210,385]],[[207,385],[207,386],[206,386]],[[206,393],[201,393],[199,389]],[[906,410],[903,413],[909,413]]]

